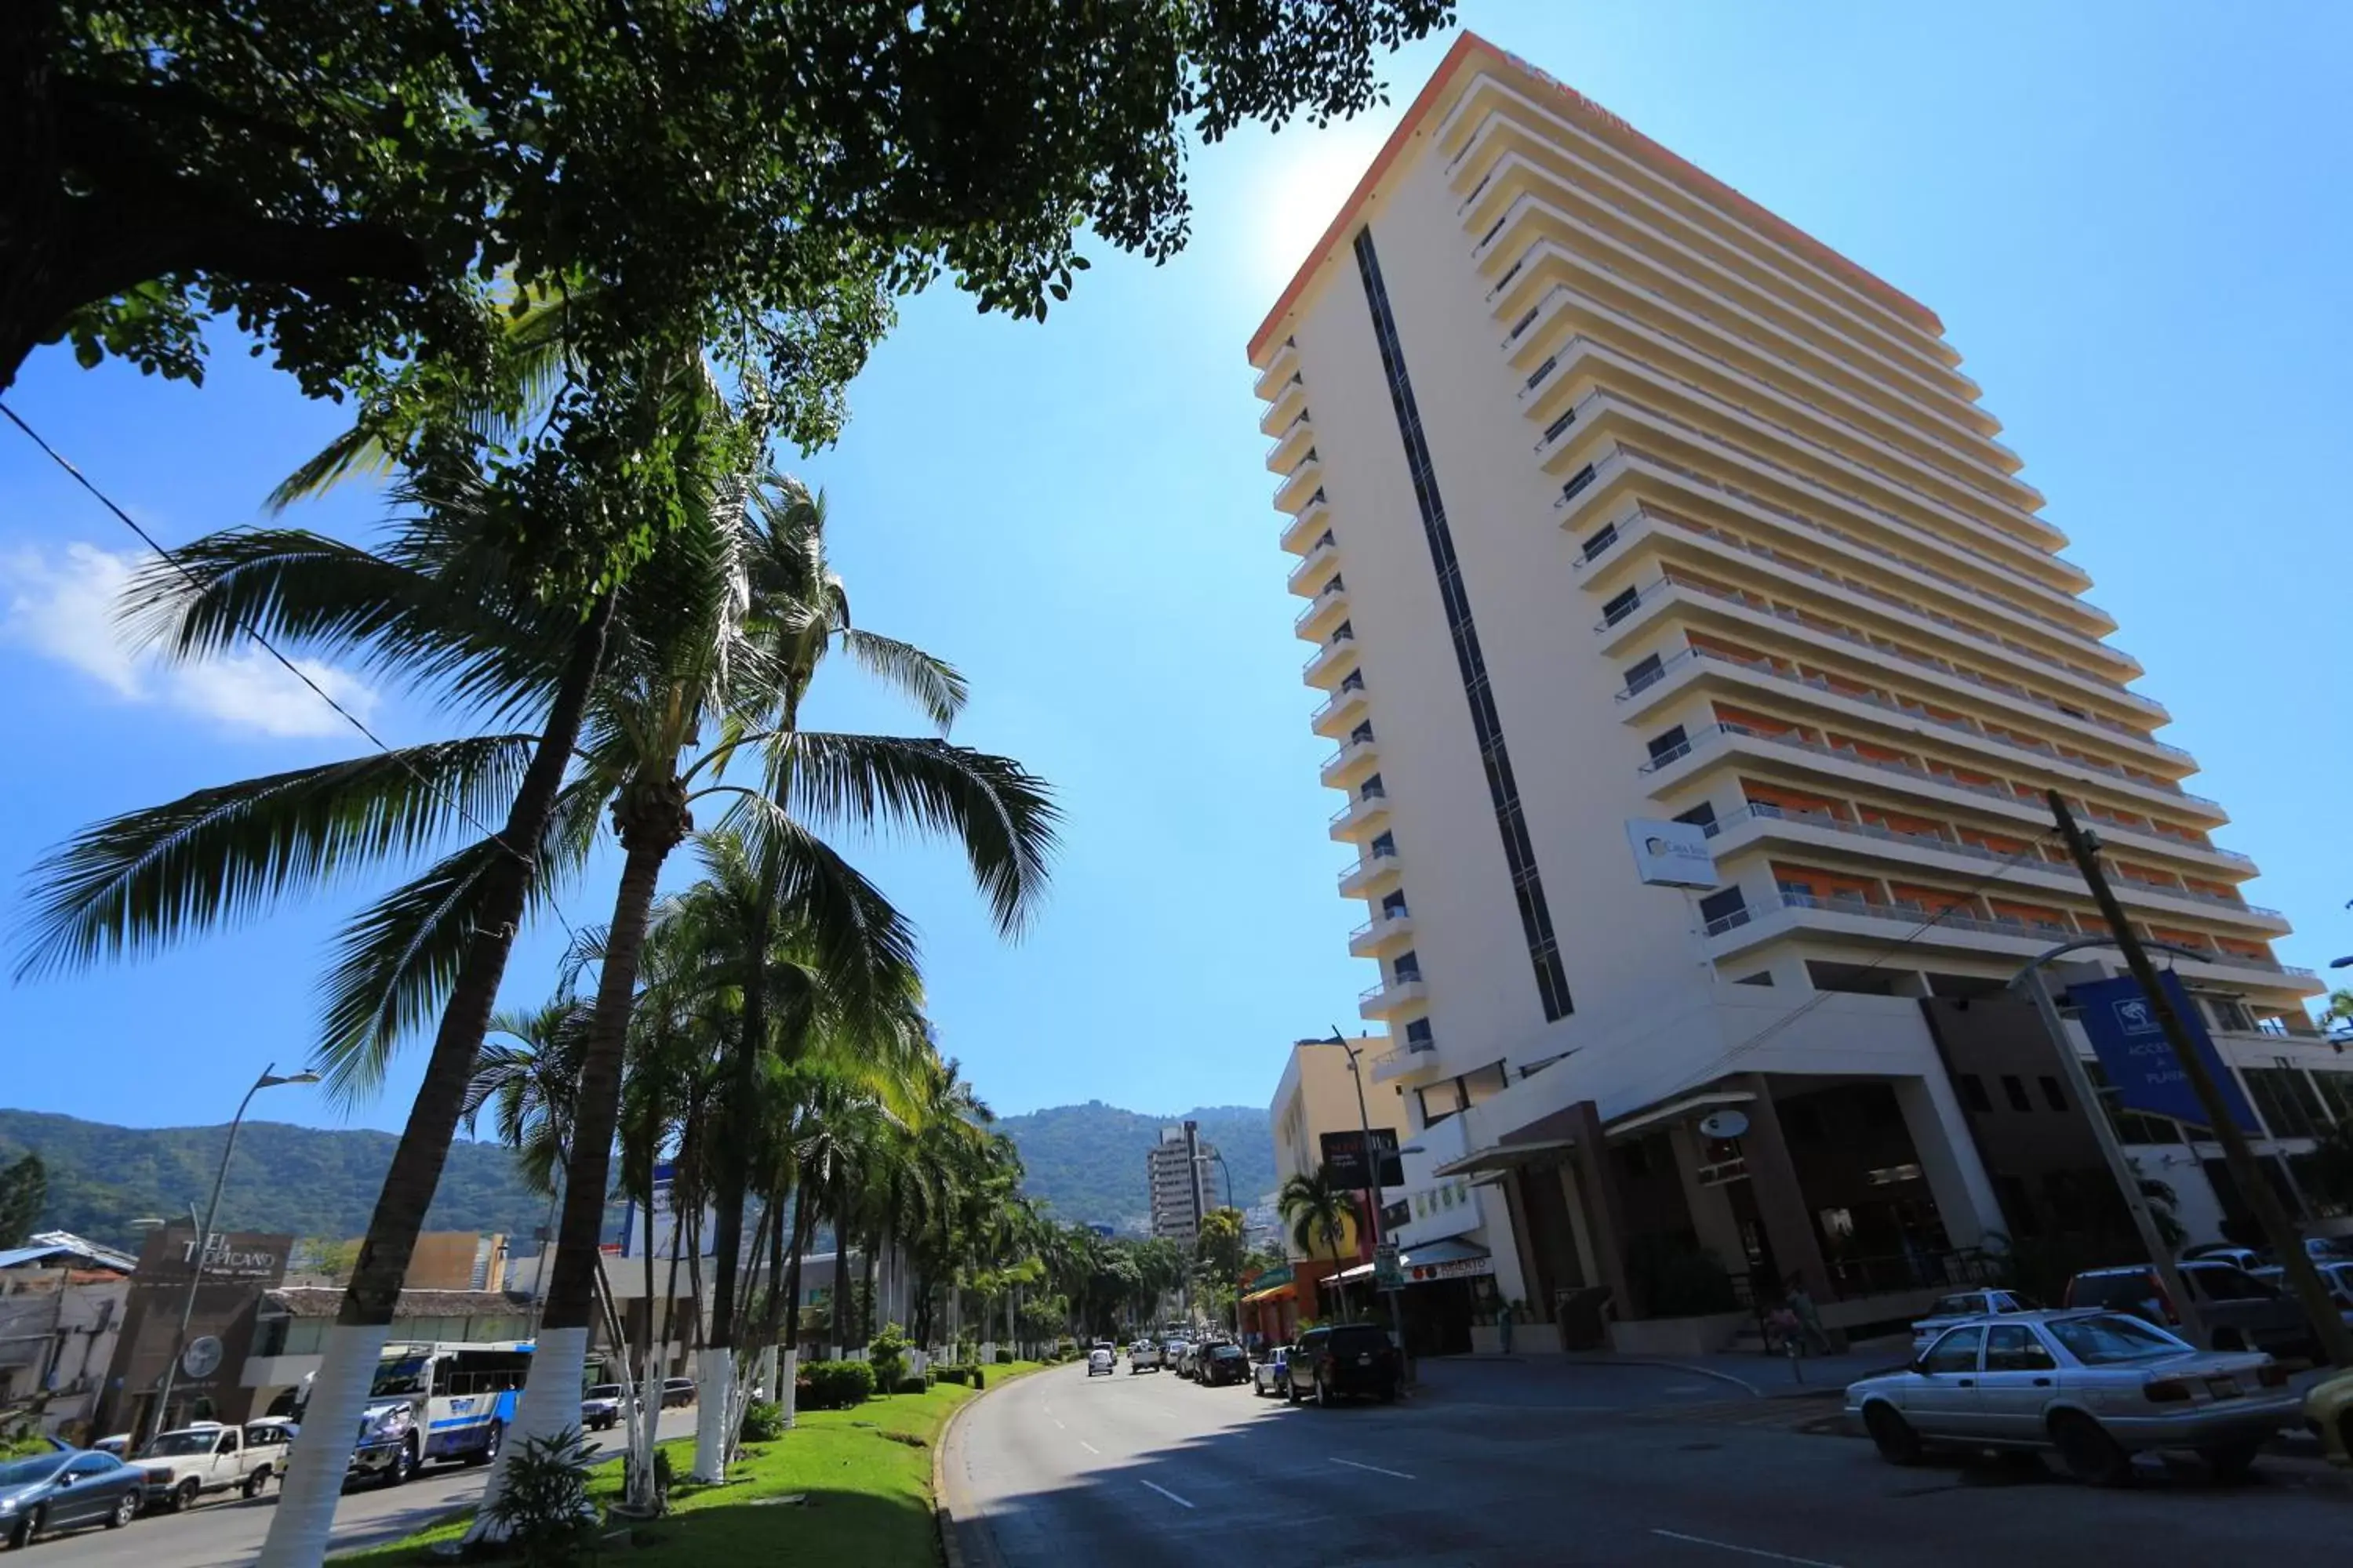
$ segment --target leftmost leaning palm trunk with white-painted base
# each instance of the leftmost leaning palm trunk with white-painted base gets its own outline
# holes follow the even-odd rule
[[[278,1495],[278,1512],[271,1514],[259,1568],[311,1568],[327,1556],[334,1505],[344,1495],[344,1472],[351,1467],[351,1450],[360,1436],[360,1410],[376,1378],[376,1359],[393,1331],[400,1281],[416,1253],[416,1234],[424,1229],[426,1208],[433,1206],[433,1190],[440,1187],[449,1140],[456,1138],[466,1086],[482,1051],[482,1034],[489,1032],[499,983],[506,978],[506,957],[522,926],[539,842],[555,813],[555,797],[572,766],[572,748],[579,745],[588,691],[605,661],[612,607],[614,597],[607,592],[572,637],[562,682],[548,705],[532,764],[506,811],[499,839],[515,853],[501,856],[487,872],[482,919],[466,940],[466,957],[449,987],[449,1001],[442,1006],[433,1053],[426,1058],[426,1074],[416,1086],[416,1103],[409,1105],[407,1126],[400,1128],[393,1168],[384,1173],[384,1190],[367,1220],[367,1237],[360,1241],[344,1307],[327,1335],[318,1375],[311,1380],[304,1441],[294,1443],[294,1460]],[[602,1182],[598,1182],[593,1199],[600,1201],[602,1194]]]

